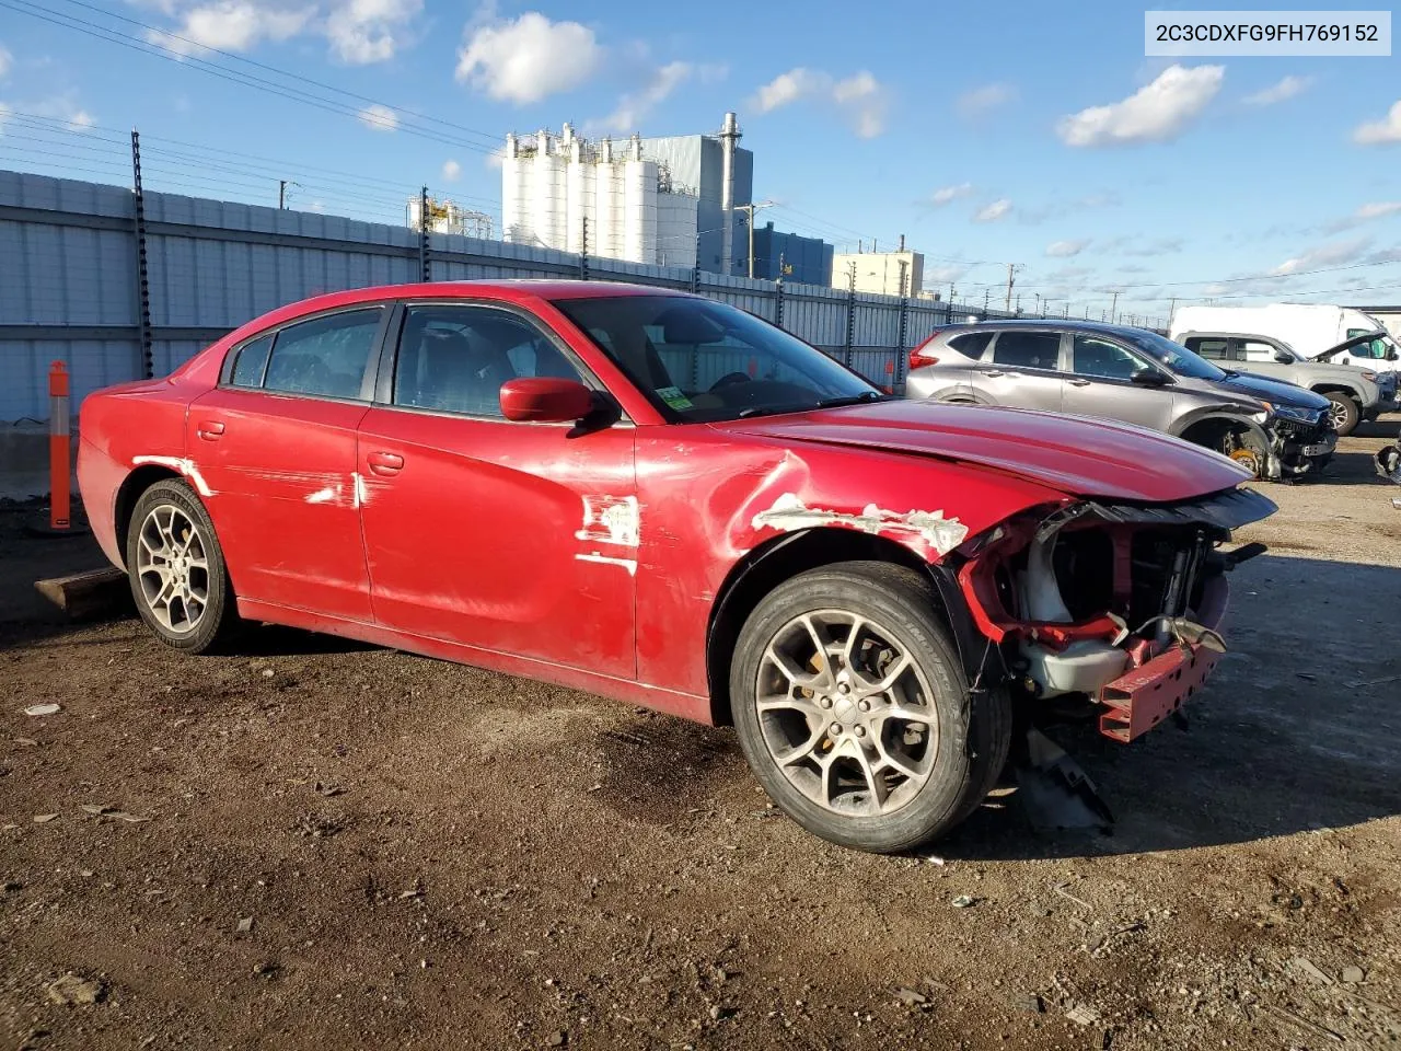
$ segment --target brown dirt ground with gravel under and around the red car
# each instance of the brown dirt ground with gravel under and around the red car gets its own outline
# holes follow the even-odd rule
[[[11,507],[0,1045],[1401,1047],[1395,423],[1262,486],[1188,729],[1062,736],[1115,835],[1033,832],[1002,790],[936,858],[807,835],[729,730],[282,629],[193,659],[67,622],[32,580],[101,556]]]

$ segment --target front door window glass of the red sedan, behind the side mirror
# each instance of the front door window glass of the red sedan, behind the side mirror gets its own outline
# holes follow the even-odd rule
[[[502,384],[549,376],[580,380],[544,332],[492,307],[409,307],[394,366],[394,404],[500,416]]]

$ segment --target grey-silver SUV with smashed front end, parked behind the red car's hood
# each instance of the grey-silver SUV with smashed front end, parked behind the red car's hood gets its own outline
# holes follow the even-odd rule
[[[1328,399],[1217,369],[1156,332],[1076,321],[988,321],[909,352],[905,397],[1138,423],[1213,448],[1259,478],[1317,474],[1338,434]]]

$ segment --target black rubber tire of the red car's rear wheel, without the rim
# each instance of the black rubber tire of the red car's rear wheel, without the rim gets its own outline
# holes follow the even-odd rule
[[[206,563],[203,572],[199,569],[186,570],[196,590],[203,593],[205,600],[195,603],[192,598],[189,604],[181,603],[179,608],[184,611],[185,618],[191,621],[191,626],[184,631],[163,622],[149,593],[149,589],[156,583],[156,570],[147,569],[143,573],[140,565],[143,530],[147,528],[151,513],[161,511],[163,509],[175,509],[193,526],[199,552]],[[184,537],[188,537],[188,531],[182,533]],[[228,580],[224,551],[219,545],[219,537],[214,534],[214,523],[210,521],[209,513],[205,510],[205,504],[199,502],[195,490],[185,485],[185,482],[175,479],[156,482],[137,497],[136,506],[132,510],[132,523],[126,531],[126,576],[132,586],[132,598],[136,601],[136,610],[140,612],[146,626],[171,649],[184,653],[209,653],[227,645],[242,624],[238,618],[234,589]],[[203,584],[202,589],[199,589],[200,583]],[[192,615],[192,610],[196,607],[199,608],[198,617]],[[168,603],[167,619],[177,619],[171,614]]]

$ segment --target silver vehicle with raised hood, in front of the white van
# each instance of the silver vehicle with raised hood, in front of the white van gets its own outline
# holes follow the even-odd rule
[[[1180,332],[1177,339],[1188,350],[1220,363],[1222,369],[1241,369],[1288,380],[1321,394],[1332,402],[1330,411],[1334,429],[1339,437],[1346,437],[1360,420],[1374,420],[1383,412],[1395,412],[1397,374],[1377,373],[1355,364],[1332,364],[1327,359],[1376,336],[1376,332],[1353,336],[1313,359],[1302,357],[1282,339],[1247,332]]]

